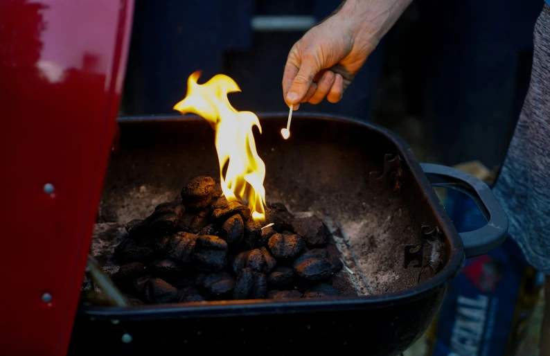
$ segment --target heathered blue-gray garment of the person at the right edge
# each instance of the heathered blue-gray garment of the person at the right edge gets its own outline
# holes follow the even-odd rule
[[[510,220],[509,235],[533,267],[550,274],[550,7],[534,30],[533,68],[494,192]]]

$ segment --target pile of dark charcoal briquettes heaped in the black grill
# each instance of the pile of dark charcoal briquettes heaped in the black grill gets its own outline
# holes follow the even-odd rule
[[[175,202],[125,229],[112,278],[132,303],[342,294],[333,277],[343,265],[321,219],[295,218],[276,203],[256,222],[211,177],[191,180]]]

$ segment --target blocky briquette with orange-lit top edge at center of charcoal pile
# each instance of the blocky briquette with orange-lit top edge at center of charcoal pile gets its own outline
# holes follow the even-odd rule
[[[193,261],[198,269],[219,271],[227,261],[227,242],[214,235],[199,236]]]

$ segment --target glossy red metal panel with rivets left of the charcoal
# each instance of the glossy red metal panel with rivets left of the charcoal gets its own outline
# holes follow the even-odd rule
[[[0,355],[66,354],[133,8],[0,0]]]

